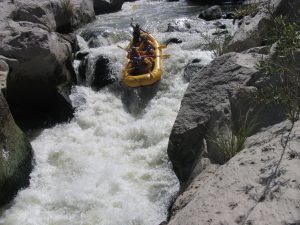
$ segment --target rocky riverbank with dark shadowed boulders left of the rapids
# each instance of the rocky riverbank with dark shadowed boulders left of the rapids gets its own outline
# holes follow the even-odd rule
[[[32,167],[31,146],[14,119],[31,128],[72,117],[68,96],[77,83],[72,61],[78,50],[72,32],[123,2],[0,1],[0,205],[28,185]]]

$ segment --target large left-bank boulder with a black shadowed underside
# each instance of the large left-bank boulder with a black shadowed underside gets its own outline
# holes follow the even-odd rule
[[[0,31],[0,55],[18,60],[18,65],[10,65],[7,80],[7,99],[15,119],[61,121],[72,115],[65,96],[76,78],[71,46],[65,39],[37,24],[7,21]]]

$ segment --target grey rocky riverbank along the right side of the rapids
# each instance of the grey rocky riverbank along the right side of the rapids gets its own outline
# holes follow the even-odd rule
[[[239,22],[227,46],[231,53],[193,71],[169,140],[168,155],[181,190],[168,224],[299,224],[299,122],[289,134],[289,122],[274,125],[286,118],[283,104],[253,101],[268,82],[276,82],[258,69],[263,55],[279,54],[275,45],[266,52],[272,20],[295,21],[299,8],[295,1],[261,2],[255,14]],[[298,52],[289,68],[299,73]],[[254,135],[228,161],[216,140],[230,137],[250,118],[256,121]]]

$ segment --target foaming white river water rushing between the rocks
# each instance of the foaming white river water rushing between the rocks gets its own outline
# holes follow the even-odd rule
[[[158,225],[166,220],[179,188],[167,144],[187,87],[183,70],[194,58],[202,64],[211,60],[210,52],[200,49],[200,33],[212,24],[196,19],[199,11],[184,2],[125,3],[122,11],[99,16],[84,28],[107,32],[90,56],[108,56],[119,77],[126,53],[117,45],[128,44],[130,18],[160,42],[177,37],[183,43],[164,51],[171,58],[156,85],[129,90],[116,82],[97,92],[74,87],[74,119],[32,140],[36,165],[30,186],[2,213],[0,224]],[[181,31],[165,32],[168,22]]]

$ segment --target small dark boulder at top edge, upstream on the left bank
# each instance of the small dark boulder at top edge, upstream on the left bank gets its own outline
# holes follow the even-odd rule
[[[124,2],[124,0],[94,0],[94,10],[96,15],[118,11]]]

